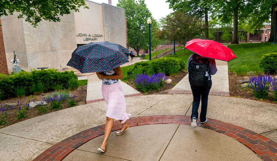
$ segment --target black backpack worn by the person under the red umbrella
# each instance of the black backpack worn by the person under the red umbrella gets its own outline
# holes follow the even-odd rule
[[[206,72],[210,75],[210,62],[208,58],[202,57],[196,59],[192,57],[189,64],[189,83],[192,86],[205,86],[208,83],[209,76],[205,76]]]

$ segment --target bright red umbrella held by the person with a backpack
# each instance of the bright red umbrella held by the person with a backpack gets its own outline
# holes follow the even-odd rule
[[[192,39],[187,42],[185,48],[202,57],[226,62],[236,58],[231,49],[213,40]]]

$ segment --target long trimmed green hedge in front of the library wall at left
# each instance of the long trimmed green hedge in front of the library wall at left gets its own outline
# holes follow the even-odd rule
[[[21,71],[17,74],[3,77],[0,80],[0,92],[4,94],[4,98],[16,97],[14,91],[17,86],[29,89],[32,84],[37,84],[37,82],[42,82],[46,87],[46,91],[52,90],[52,86],[55,83],[68,88],[68,81],[71,78],[77,78],[73,71],[57,72],[54,69],[33,70],[31,72]]]

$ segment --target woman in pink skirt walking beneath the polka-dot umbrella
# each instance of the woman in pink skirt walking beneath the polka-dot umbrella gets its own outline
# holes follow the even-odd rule
[[[123,95],[121,84],[118,79],[123,78],[123,74],[120,67],[116,67],[112,71],[99,73],[96,72],[99,79],[102,79],[102,95],[106,101],[106,126],[105,134],[102,145],[97,151],[105,152],[107,149],[107,141],[113,129],[113,119],[117,119],[122,124],[122,129],[116,132],[116,135],[121,135],[125,132],[129,126],[126,124],[126,120],[129,119],[131,114],[126,114],[126,102]]]

